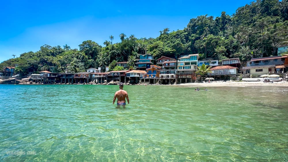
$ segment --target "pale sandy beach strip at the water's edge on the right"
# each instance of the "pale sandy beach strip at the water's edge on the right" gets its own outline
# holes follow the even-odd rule
[[[248,87],[248,86],[283,86],[288,87],[287,81],[279,81],[273,83],[264,83],[263,81],[241,81],[241,82],[216,82],[211,83],[181,83],[175,86],[194,86],[194,87]]]

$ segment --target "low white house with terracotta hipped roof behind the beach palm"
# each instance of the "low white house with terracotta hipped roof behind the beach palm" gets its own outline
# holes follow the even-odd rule
[[[211,73],[207,74],[210,76],[215,76],[215,75],[236,76],[238,74],[238,68],[234,66],[229,66],[229,65],[215,66],[213,68],[210,68],[210,70],[211,70]]]

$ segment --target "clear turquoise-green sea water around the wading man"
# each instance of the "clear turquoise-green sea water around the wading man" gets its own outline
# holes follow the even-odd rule
[[[195,88],[0,85],[0,161],[288,160],[287,88]]]

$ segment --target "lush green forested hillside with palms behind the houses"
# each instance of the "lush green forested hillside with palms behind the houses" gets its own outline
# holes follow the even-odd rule
[[[121,33],[121,42],[114,44],[114,36],[107,36],[104,47],[91,40],[83,41],[79,49],[71,49],[67,44],[43,45],[37,52],[23,53],[0,66],[16,66],[16,72],[21,74],[48,70],[49,66],[56,66],[57,72],[76,73],[98,66],[110,66],[112,70],[115,62],[127,60],[133,66],[133,56],[146,53],[153,54],[155,59],[198,53],[200,60],[220,61],[275,56],[277,46],[288,44],[288,0],[257,0],[239,7],[233,15],[226,12],[216,18],[202,15],[192,18],[183,30],[165,28],[159,33],[157,38]]]

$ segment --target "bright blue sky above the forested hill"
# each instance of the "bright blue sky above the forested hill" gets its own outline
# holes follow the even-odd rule
[[[44,44],[79,49],[85,40],[103,46],[110,35],[113,43],[119,42],[121,33],[156,38],[164,28],[181,30],[191,18],[205,14],[232,15],[251,1],[1,1],[0,62]]]

